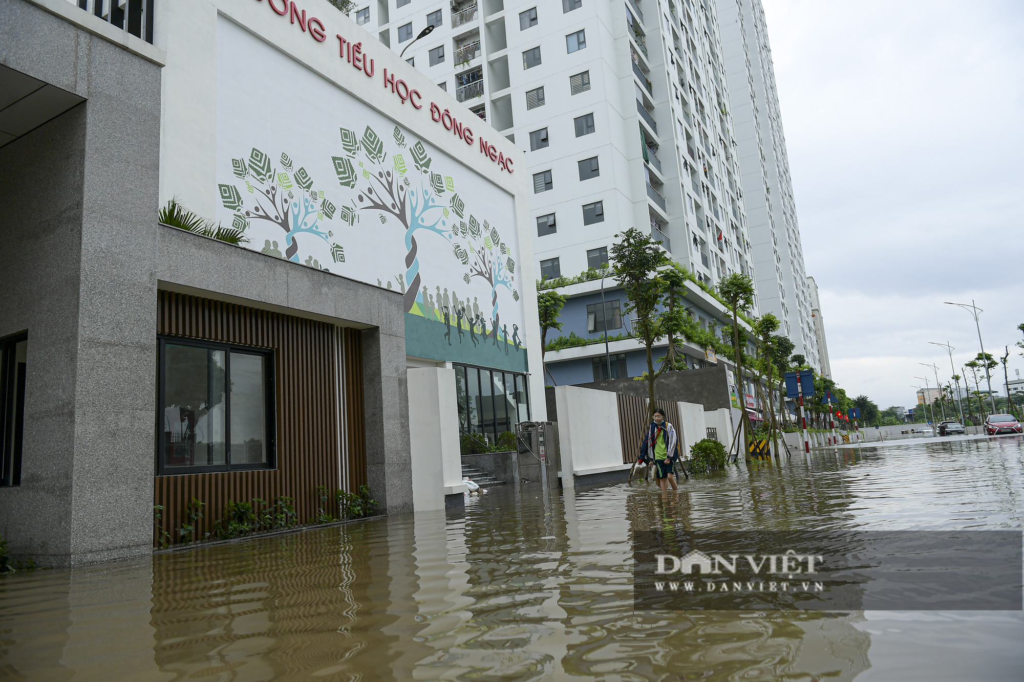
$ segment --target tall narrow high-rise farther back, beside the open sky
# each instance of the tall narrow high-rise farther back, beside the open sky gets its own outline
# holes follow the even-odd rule
[[[761,0],[715,0],[745,193],[761,312],[772,312],[811,367],[819,357]],[[824,372],[824,369],[822,369]]]

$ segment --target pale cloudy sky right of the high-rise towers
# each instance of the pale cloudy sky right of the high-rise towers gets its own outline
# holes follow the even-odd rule
[[[1024,339],[1024,2],[763,2],[834,378],[911,407],[919,363],[951,374],[929,341],[979,350],[943,301],[993,355]]]

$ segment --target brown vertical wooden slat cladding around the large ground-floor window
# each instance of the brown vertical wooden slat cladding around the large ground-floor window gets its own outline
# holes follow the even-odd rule
[[[196,498],[206,503],[198,535],[211,529],[228,501],[260,498],[272,503],[280,496],[295,499],[300,523],[314,517],[319,506],[316,486],[338,486],[339,406],[337,373],[346,395],[349,468],[366,482],[366,436],[362,417],[362,373],[359,333],[346,337],[344,368],[334,354],[336,330],[316,321],[259,310],[233,303],[172,292],[160,292],[158,333],[272,348],[276,370],[278,467],[257,471],[157,476],[154,504],[164,506],[163,529],[178,540],[185,508]],[[357,374],[357,380],[353,377]],[[358,425],[356,431],[353,426]]]

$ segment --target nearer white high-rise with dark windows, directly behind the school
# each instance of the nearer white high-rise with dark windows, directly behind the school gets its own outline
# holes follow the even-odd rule
[[[526,151],[542,275],[605,264],[633,226],[711,285],[753,272],[713,4],[372,0],[355,16]]]

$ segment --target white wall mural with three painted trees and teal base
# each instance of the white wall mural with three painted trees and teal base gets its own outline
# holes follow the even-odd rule
[[[216,144],[245,246],[402,294],[409,355],[527,371],[510,194],[223,17]]]

